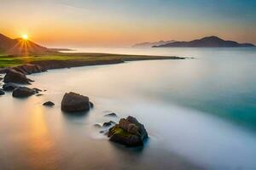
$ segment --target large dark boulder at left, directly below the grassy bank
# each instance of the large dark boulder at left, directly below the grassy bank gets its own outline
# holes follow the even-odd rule
[[[15,82],[20,84],[31,84],[32,80],[26,78],[25,74],[22,74],[19,71],[15,71],[14,69],[9,69],[6,71],[6,75],[3,78],[3,82]]]

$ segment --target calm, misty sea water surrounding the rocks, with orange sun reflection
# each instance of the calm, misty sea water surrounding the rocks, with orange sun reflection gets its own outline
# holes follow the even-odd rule
[[[0,169],[256,169],[256,48],[87,48],[195,57],[133,61],[29,76],[44,96],[0,97]],[[61,112],[63,94],[95,109]],[[42,104],[51,100],[53,108]],[[95,123],[136,116],[143,149],[113,144]]]

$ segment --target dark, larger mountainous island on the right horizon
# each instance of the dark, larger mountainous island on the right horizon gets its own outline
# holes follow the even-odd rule
[[[153,48],[218,48],[218,47],[254,47],[252,43],[239,43],[234,41],[225,41],[219,37],[203,37],[191,42],[170,42],[163,45],[154,45]]]

